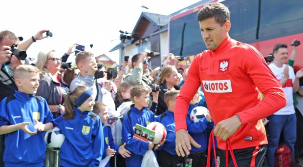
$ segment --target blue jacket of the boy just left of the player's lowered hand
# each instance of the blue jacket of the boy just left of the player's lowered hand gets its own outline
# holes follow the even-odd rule
[[[166,116],[163,116],[164,114]],[[162,149],[162,150],[164,150],[164,151],[166,151],[166,152],[168,152],[172,155],[177,155],[177,152],[175,151],[176,134],[174,132],[175,125],[174,125],[173,112],[168,111],[166,109],[166,111],[164,113],[162,113],[161,115],[156,117],[156,121],[161,123],[162,125],[164,125],[164,127],[166,128],[166,132],[167,132],[165,142],[162,146],[160,146],[158,148],[158,150]]]

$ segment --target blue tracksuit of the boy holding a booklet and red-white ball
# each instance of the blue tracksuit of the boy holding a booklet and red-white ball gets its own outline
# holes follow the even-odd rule
[[[141,167],[143,155],[149,150],[149,143],[133,139],[134,128],[136,124],[147,126],[154,122],[154,114],[144,107],[141,111],[130,105],[130,117],[127,114],[123,120],[122,143],[126,142],[126,149],[131,152],[130,158],[125,158],[127,167]]]

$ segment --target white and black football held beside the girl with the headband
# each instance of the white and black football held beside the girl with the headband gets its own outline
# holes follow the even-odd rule
[[[59,127],[47,130],[44,136],[47,147],[52,150],[60,150],[64,140],[65,136],[62,134]]]

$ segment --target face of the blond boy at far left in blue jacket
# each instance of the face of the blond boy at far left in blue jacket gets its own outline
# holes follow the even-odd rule
[[[39,80],[39,73],[26,72],[21,79],[16,79],[16,84],[20,92],[36,94],[39,87]]]

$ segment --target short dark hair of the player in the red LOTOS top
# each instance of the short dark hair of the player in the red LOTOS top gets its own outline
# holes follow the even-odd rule
[[[203,21],[213,17],[215,17],[217,23],[223,26],[226,21],[230,21],[228,8],[222,3],[208,3],[204,5],[197,14],[198,21]]]

